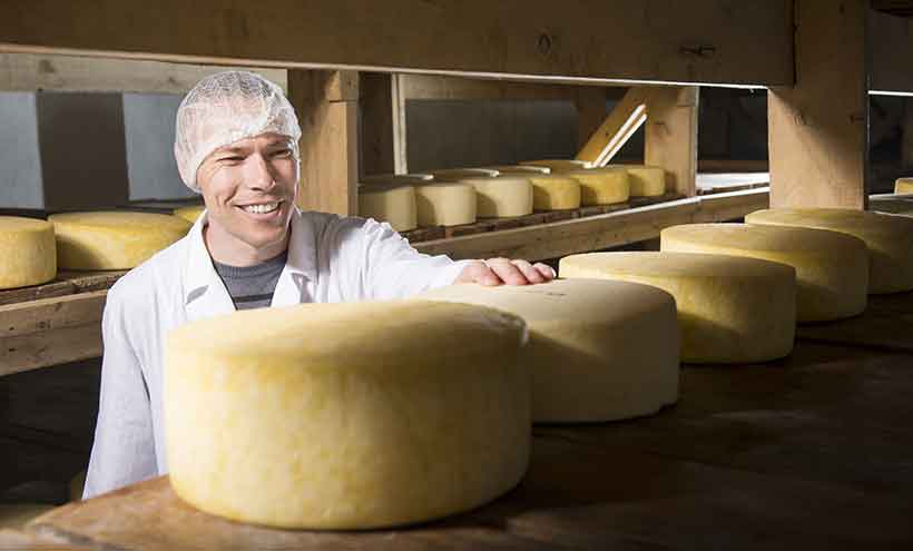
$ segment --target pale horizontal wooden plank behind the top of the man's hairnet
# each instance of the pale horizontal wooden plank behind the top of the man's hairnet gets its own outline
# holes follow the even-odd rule
[[[0,53],[0,90],[186,94],[204,77],[232,69],[239,68],[140,59]],[[287,87],[283,69],[248,67],[245,70],[256,71],[283,89]]]

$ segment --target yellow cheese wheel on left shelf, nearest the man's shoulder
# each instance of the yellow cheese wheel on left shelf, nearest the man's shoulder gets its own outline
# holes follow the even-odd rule
[[[62,269],[129,269],[180,239],[190,223],[150,213],[66,213],[48,217]]]

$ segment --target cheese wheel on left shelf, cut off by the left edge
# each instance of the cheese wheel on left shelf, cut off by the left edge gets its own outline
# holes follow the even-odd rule
[[[0,289],[40,285],[57,276],[53,225],[0,216]]]

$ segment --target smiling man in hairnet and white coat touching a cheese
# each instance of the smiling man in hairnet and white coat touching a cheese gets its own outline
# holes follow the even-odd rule
[[[168,471],[163,345],[180,324],[252,307],[391,299],[452,283],[526,285],[543,265],[418,253],[386,224],[302,213],[301,129],[274,83],[229,71],[177,114],[175,158],[205,213],[186,237],[121,277],[101,322],[101,396],[84,498]],[[307,335],[302,335],[307,338]]]

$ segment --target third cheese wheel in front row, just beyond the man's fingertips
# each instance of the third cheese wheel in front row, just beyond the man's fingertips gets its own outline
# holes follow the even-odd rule
[[[562,258],[559,275],[624,279],[670,293],[684,362],[765,362],[793,350],[796,270],[785,264],[691,253],[592,253]]]

